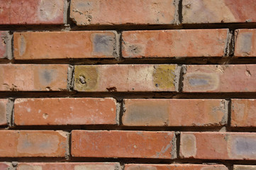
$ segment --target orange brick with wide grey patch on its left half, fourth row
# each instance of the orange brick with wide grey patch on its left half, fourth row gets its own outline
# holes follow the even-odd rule
[[[186,107],[184,107],[186,106]],[[125,99],[123,125],[226,125],[228,103],[219,99]]]

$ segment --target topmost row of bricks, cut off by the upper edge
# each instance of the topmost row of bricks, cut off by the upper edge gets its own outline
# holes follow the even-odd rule
[[[255,5],[254,0],[71,0],[66,14],[66,0],[5,0],[0,4],[0,24],[63,25],[66,15],[77,26],[179,24],[179,18],[184,24],[250,23],[256,21]]]

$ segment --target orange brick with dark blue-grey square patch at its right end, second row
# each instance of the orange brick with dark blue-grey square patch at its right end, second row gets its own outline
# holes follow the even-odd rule
[[[116,31],[14,33],[16,60],[118,57]]]

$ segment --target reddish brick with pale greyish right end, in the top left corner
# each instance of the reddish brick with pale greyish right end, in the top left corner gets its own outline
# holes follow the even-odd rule
[[[0,24],[64,24],[63,0],[4,0]]]

